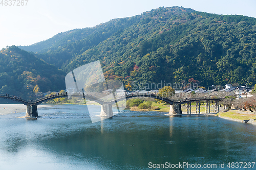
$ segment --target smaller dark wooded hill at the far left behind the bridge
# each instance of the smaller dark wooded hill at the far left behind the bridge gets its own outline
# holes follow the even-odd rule
[[[16,46],[0,53],[0,93],[33,99],[38,85],[46,92],[65,89],[66,74]]]

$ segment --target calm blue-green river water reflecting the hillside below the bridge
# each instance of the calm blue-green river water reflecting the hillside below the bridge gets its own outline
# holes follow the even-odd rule
[[[220,169],[220,162],[256,162],[256,126],[219,117],[127,110],[92,124],[86,106],[38,113],[37,120],[0,115],[0,169],[150,169],[149,162]]]

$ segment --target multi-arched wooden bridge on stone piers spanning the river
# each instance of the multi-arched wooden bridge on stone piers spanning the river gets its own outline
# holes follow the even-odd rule
[[[49,96],[45,96],[44,98],[40,98],[37,100],[24,100],[21,98],[18,98],[17,96],[11,96],[9,94],[0,94],[0,98],[2,99],[7,99],[7,100],[12,100],[15,102],[22,103],[27,106],[26,110],[26,117],[39,117],[38,112],[37,112],[37,105],[47,102],[49,100],[57,99],[57,98],[64,98],[67,97],[68,94],[67,92],[65,93],[58,93],[58,94],[52,94]],[[130,93],[130,94],[125,94],[125,95],[117,95],[118,97],[115,100],[102,100],[100,98],[97,98],[96,96],[89,95],[89,94],[72,94],[72,96],[75,96],[77,98],[83,98],[83,99],[88,99],[91,101],[95,101],[101,105],[101,116],[113,116],[113,111],[112,111],[112,105],[126,99],[131,99],[131,98],[141,98],[141,97],[146,97],[146,98],[154,98],[158,100],[162,100],[168,104],[170,104],[170,110],[169,114],[182,114],[181,111],[181,104],[187,103],[187,114],[191,114],[191,102],[196,102],[196,113],[200,114],[200,101],[205,101],[206,103],[206,113],[210,113],[210,101],[215,101],[215,112],[219,112],[219,102],[222,101],[222,98],[190,98],[190,99],[183,99],[183,100],[173,100],[171,98],[163,98],[157,94],[152,94],[152,93]]]

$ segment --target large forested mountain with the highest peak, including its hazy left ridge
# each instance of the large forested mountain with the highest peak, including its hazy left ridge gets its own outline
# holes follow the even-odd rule
[[[254,85],[255,24],[247,16],[160,7],[22,48],[66,72],[100,60],[105,77],[125,85],[190,78],[203,86]]]

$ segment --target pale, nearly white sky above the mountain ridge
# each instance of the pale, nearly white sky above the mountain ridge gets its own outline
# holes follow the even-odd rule
[[[0,5],[0,49],[7,45],[31,45],[59,32],[94,27],[113,18],[134,16],[162,6],[256,18],[255,0],[29,0],[27,6]]]

